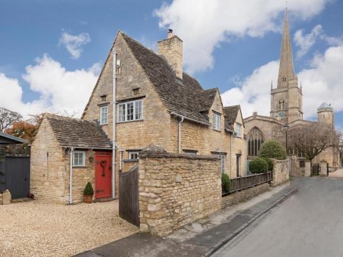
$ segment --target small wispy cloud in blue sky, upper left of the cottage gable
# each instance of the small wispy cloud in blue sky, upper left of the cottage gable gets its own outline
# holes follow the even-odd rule
[[[67,32],[63,32],[59,44],[64,47],[71,54],[71,58],[78,59],[82,53],[82,45],[91,42],[91,36],[88,33],[81,33],[78,35],[71,35]]]

